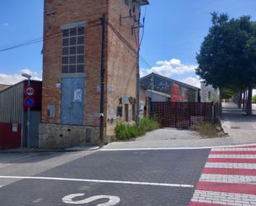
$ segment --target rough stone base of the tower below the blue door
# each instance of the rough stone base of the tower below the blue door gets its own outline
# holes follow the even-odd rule
[[[67,148],[99,145],[99,127],[81,127],[41,123],[39,148]]]

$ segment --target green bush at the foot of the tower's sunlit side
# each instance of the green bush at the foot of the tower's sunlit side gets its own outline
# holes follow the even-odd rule
[[[118,140],[128,140],[134,137],[140,137],[159,128],[159,125],[156,121],[152,119],[142,119],[139,122],[139,125],[126,125],[123,123],[118,123],[114,129],[115,135]]]

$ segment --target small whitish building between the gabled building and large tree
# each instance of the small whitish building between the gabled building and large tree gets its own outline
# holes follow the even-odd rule
[[[220,100],[220,90],[214,89],[211,85],[205,84],[205,81],[200,82],[200,101],[202,103],[217,103]]]

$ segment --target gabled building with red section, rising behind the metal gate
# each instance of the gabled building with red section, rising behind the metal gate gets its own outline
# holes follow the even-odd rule
[[[140,84],[145,89],[171,95],[171,102],[195,103],[200,101],[200,89],[159,74],[148,74],[140,79]]]

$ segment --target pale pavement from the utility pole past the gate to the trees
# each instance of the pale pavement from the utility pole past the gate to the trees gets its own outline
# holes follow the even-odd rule
[[[229,137],[203,139],[197,132],[163,128],[147,132],[134,141],[112,142],[104,146],[107,150],[130,148],[186,148],[234,146],[256,143],[256,116],[247,117],[234,103],[223,104],[222,127]],[[256,106],[254,105],[254,108]]]

